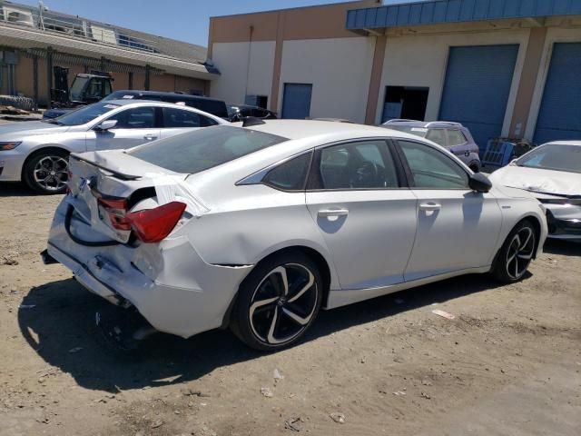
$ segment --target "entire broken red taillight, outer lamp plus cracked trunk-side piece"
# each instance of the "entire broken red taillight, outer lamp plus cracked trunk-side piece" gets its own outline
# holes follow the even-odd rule
[[[182,218],[186,205],[180,202],[163,204],[154,209],[127,213],[127,200],[118,197],[101,197],[99,205],[109,215],[113,229],[133,230],[143,243],[159,243],[170,234]]]

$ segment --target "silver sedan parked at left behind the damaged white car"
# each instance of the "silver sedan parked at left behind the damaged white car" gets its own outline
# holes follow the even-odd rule
[[[192,107],[110,100],[54,120],[0,126],[0,182],[23,181],[38,193],[64,193],[72,152],[133,147],[189,129],[226,124]]]

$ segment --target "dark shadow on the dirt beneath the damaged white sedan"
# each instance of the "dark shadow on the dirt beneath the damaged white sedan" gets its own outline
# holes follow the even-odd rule
[[[468,275],[321,311],[304,341],[498,285],[488,276]],[[73,279],[35,287],[22,304],[18,322],[25,340],[45,362],[70,373],[87,389],[114,392],[193,381],[215,368],[262,355],[227,330],[204,332],[188,340],[157,333],[143,341],[138,353],[115,351],[96,327],[95,311],[121,310],[86,292]]]

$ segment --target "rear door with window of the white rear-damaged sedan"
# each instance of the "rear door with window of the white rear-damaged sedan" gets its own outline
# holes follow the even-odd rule
[[[416,233],[417,200],[384,139],[317,150],[306,201],[341,289],[403,281]]]

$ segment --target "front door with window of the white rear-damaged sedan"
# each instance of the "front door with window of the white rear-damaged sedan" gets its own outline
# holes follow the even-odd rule
[[[492,193],[468,188],[468,173],[446,153],[399,141],[418,198],[418,232],[405,280],[490,264],[500,232]]]

